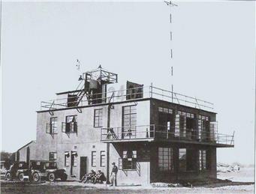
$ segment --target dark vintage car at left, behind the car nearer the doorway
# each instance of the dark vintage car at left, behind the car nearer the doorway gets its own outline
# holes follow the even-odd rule
[[[15,162],[6,172],[5,179],[11,181],[13,179],[18,178],[20,181],[23,181],[23,177],[29,175],[29,166],[26,162]]]

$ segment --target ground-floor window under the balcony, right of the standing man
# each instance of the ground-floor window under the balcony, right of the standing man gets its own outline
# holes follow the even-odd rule
[[[122,169],[136,170],[137,167],[137,151],[122,152]]]

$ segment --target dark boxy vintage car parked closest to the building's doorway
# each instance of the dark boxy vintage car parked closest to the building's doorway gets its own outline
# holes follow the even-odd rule
[[[55,181],[60,178],[62,181],[66,181],[68,175],[65,173],[65,169],[58,169],[56,162],[45,160],[32,160],[30,162],[32,180],[35,182],[41,179],[47,179],[48,181]]]

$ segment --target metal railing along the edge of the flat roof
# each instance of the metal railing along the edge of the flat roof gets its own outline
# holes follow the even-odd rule
[[[71,92],[71,94],[74,94]],[[41,110],[62,109],[67,107],[88,106],[92,104],[115,103],[143,98],[155,98],[165,100],[172,103],[178,103],[185,106],[195,107],[197,109],[213,109],[213,103],[200,100],[196,97],[188,97],[172,91],[167,91],[155,86],[142,86],[137,88],[123,89],[119,91],[108,91],[106,93],[89,94],[88,92],[76,103],[77,96],[65,97],[56,100],[48,100],[41,102]],[[74,106],[69,102],[74,99]]]

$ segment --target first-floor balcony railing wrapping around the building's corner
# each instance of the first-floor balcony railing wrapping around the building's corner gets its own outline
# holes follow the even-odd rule
[[[234,145],[234,135],[224,135],[213,131],[197,131],[155,124],[101,128],[102,142],[172,140],[173,142],[198,142],[214,145]]]

